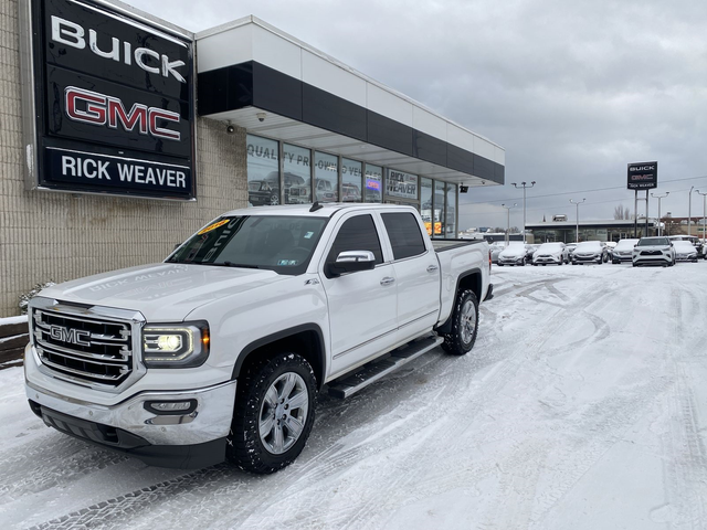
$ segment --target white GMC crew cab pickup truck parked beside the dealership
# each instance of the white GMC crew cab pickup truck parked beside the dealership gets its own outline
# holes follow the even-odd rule
[[[34,297],[30,406],[150,465],[273,473],[323,388],[346,398],[439,344],[469,351],[489,268],[485,242],[433,242],[411,206],[235,210],[163,263]]]

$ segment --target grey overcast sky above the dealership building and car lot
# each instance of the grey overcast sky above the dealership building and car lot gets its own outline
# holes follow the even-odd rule
[[[658,161],[663,214],[707,192],[707,2],[129,0],[198,32],[254,14],[506,149],[506,184],[461,195],[460,227],[633,212],[629,162]],[[643,195],[644,192],[641,192]],[[651,200],[650,214],[657,214]],[[639,203],[639,214],[645,203]],[[703,197],[693,193],[693,216]]]

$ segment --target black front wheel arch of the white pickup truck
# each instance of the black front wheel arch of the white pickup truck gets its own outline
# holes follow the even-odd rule
[[[326,349],[324,333],[316,324],[295,326],[254,340],[239,353],[232,379],[238,379],[256,360],[282,351],[292,351],[306,359],[317,378],[317,390],[321,389],[326,375]]]

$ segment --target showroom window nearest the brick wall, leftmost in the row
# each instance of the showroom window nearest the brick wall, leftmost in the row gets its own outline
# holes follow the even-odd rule
[[[279,147],[277,141],[247,135],[247,202],[253,206],[279,204]]]

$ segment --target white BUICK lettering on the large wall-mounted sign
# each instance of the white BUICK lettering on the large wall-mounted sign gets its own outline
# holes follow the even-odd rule
[[[52,15],[52,41],[77,50],[84,50],[86,47],[85,35],[86,32],[82,25],[61,17]],[[136,66],[145,72],[163,77],[172,76],[180,83],[187,83],[184,76],[176,70],[186,66],[183,61],[170,61],[167,55],[159,54],[149,47],[136,47],[133,51],[133,45],[129,42],[123,42],[123,46],[120,46],[118,39],[115,36],[109,39],[110,50],[101,50],[96,30],[88,29],[88,49],[96,56],[116,62],[120,62],[123,59],[123,62],[128,66],[135,63]],[[152,57],[159,64],[159,67],[147,64],[146,57]]]

